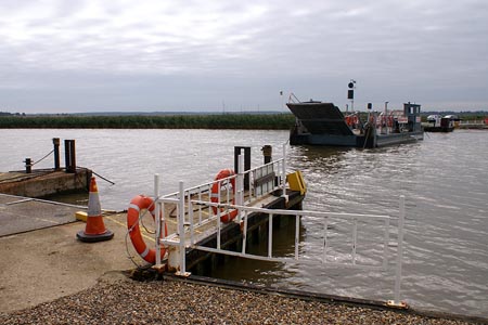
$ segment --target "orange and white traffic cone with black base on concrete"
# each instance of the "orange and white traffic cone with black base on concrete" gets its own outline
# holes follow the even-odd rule
[[[114,237],[114,233],[105,229],[102,217],[102,208],[100,207],[99,190],[97,188],[95,178],[91,178],[90,193],[88,194],[88,217],[85,231],[79,231],[76,237],[81,242],[95,243],[110,240]]]

